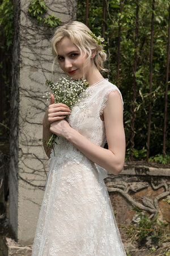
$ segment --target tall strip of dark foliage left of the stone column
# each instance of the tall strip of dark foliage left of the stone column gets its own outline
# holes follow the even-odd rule
[[[12,0],[3,0],[0,4],[0,50],[1,50],[1,86],[5,98],[5,108],[1,109],[3,120],[0,123],[0,137],[3,141],[10,138],[10,85],[11,85],[11,56],[14,36],[14,5]],[[3,86],[4,85],[4,86]]]

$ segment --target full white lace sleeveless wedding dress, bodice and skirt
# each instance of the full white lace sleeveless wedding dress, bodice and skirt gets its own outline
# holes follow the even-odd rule
[[[69,116],[71,127],[101,147],[106,137],[100,115],[113,90],[118,88],[108,79],[90,86]],[[32,256],[126,255],[103,180],[107,172],[66,139],[57,143],[50,155]]]

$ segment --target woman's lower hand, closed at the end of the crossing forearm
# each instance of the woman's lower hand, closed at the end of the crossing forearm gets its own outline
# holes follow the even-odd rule
[[[67,137],[71,126],[66,120],[59,120],[51,123],[50,125],[50,132],[57,134],[61,137]]]

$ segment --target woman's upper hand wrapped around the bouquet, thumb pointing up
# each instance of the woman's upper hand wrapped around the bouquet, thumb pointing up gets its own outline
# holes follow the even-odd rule
[[[66,115],[69,115],[71,110],[69,107],[62,103],[54,103],[54,95],[50,96],[50,105],[45,112],[43,125],[50,127],[51,123],[55,121],[62,120],[66,118]]]

